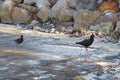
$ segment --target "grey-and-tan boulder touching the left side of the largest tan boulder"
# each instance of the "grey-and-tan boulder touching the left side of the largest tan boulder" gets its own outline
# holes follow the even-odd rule
[[[59,21],[66,22],[66,21],[72,21],[73,20],[73,9],[64,7],[60,11],[60,15],[58,16]]]

